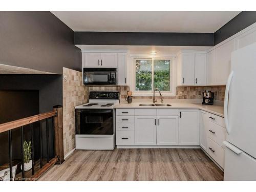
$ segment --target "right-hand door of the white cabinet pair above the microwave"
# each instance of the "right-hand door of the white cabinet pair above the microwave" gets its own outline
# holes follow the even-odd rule
[[[101,53],[100,66],[102,68],[117,68],[117,53]]]

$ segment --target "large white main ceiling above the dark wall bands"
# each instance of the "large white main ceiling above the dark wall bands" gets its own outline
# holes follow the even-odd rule
[[[73,31],[214,33],[241,11],[52,11]]]

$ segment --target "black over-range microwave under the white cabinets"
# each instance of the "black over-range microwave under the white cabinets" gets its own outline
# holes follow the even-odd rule
[[[83,84],[117,84],[116,68],[83,68]]]

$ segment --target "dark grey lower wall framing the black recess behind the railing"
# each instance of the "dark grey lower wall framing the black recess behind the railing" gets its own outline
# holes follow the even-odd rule
[[[0,90],[39,90],[39,113],[62,105],[62,75],[0,75]]]

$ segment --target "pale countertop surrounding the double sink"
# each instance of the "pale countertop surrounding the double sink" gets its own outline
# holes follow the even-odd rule
[[[151,104],[152,102],[132,102],[132,103],[124,103],[121,102],[114,106],[115,109],[199,109],[203,110],[215,115],[219,115],[224,117],[224,107],[222,105],[204,105],[201,103],[189,103],[189,102],[164,102],[170,104],[172,106],[140,106],[139,104]],[[160,103],[159,103],[160,104]]]

